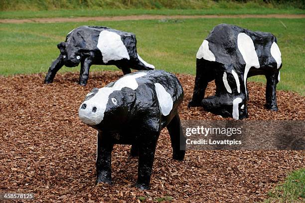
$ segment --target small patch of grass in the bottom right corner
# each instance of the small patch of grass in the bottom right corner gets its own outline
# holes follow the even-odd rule
[[[305,200],[305,168],[291,173],[284,183],[268,193],[264,203],[301,203]]]

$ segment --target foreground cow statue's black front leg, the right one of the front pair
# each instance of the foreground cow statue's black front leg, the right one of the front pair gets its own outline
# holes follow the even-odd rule
[[[145,132],[146,139],[141,140],[139,146],[139,166],[138,166],[138,181],[136,187],[141,190],[149,190],[152,176],[152,165],[154,161],[154,153],[156,148],[157,138],[160,132]],[[149,135],[149,139],[147,136]]]

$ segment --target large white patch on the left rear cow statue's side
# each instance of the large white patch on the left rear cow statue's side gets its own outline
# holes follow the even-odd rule
[[[111,60],[130,59],[126,46],[121,40],[121,36],[115,32],[107,30],[101,31],[97,47],[102,52],[103,62]]]

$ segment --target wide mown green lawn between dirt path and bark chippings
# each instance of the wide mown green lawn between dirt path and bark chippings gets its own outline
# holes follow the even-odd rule
[[[80,25],[104,25],[134,32],[138,52],[157,69],[195,74],[196,52],[210,30],[219,23],[272,32],[278,37],[283,68],[279,89],[305,95],[305,19],[217,18],[185,20],[89,21],[63,23],[0,24],[0,75],[47,72],[58,54],[57,43]],[[287,27],[284,27],[284,25]],[[93,66],[91,70],[118,70]],[[63,67],[62,71],[79,71]],[[255,81],[265,81],[262,76]]]

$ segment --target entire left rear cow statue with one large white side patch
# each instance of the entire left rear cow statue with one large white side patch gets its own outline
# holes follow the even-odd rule
[[[152,70],[137,52],[135,34],[109,27],[81,26],[70,31],[65,42],[57,44],[60,54],[49,67],[44,83],[53,82],[63,66],[75,67],[81,63],[79,84],[86,85],[91,65],[116,65],[124,74],[136,70]]]

